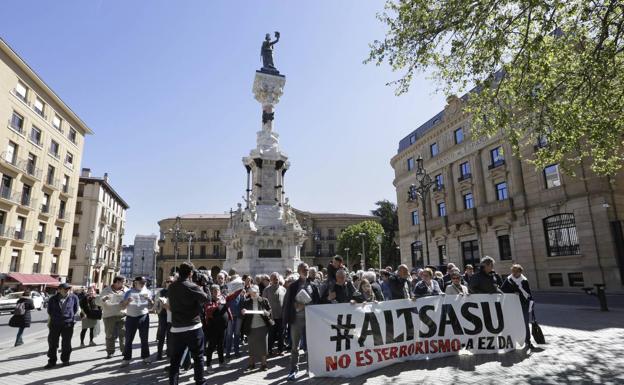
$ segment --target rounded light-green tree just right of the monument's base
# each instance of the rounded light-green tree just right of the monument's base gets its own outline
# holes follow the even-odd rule
[[[359,253],[362,252],[362,238],[364,234],[364,253],[366,255],[366,267],[379,267],[379,247],[377,246],[377,236],[384,236],[383,227],[375,221],[364,221],[351,225],[338,236],[338,250],[343,258],[346,256],[345,248],[349,248],[349,264],[353,266],[360,262]],[[346,263],[345,259],[345,263]],[[351,268],[351,266],[348,266]]]

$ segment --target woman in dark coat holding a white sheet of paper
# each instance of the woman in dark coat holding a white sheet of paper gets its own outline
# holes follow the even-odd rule
[[[249,298],[243,301],[241,315],[243,316],[242,333],[249,339],[249,366],[247,370],[256,368],[256,361],[261,361],[260,370],[266,371],[267,335],[273,326],[271,319],[271,305],[266,298],[260,297],[258,285],[249,286]]]

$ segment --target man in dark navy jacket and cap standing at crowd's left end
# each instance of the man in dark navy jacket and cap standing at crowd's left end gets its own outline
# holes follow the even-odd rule
[[[44,369],[56,366],[56,351],[59,339],[61,344],[61,362],[63,366],[69,365],[69,357],[72,352],[71,339],[74,335],[74,323],[78,314],[78,297],[71,293],[71,285],[61,283],[58,292],[50,297],[48,302],[48,364]]]

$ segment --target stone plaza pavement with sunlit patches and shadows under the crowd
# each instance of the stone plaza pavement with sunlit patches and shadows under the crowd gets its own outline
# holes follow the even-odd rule
[[[310,384],[624,384],[624,309],[601,313],[595,308],[570,305],[541,305],[539,320],[547,344],[540,352],[526,355],[520,352],[493,355],[460,355],[430,361],[401,363],[354,379],[300,378]],[[150,338],[156,334],[156,319],[152,319]],[[74,333],[78,344],[79,328]],[[73,364],[43,370],[46,363],[46,336],[31,337],[26,332],[26,344],[17,348],[0,348],[0,384],[88,384],[132,385],[166,384],[165,361],[149,366],[139,359],[135,345],[135,360],[128,368],[119,368],[120,356],[104,358],[104,337],[96,338],[98,346],[75,349]],[[138,340],[138,336],[137,336]],[[136,341],[135,341],[136,342]],[[156,350],[151,344],[151,351]],[[245,359],[232,361],[228,370],[207,376],[210,384],[284,384],[287,357],[269,362],[268,372],[244,374]],[[192,370],[183,373],[181,384],[192,384]]]

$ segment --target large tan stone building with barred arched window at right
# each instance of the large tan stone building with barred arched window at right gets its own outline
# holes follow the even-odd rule
[[[513,156],[504,137],[473,140],[463,104],[463,98],[448,98],[443,111],[399,142],[391,159],[402,261],[463,267],[489,255],[501,274],[508,274],[513,263],[522,264],[539,289],[605,283],[607,290],[621,291],[622,175],[599,177],[587,164],[574,174],[556,164],[537,170]],[[543,146],[548,146],[545,139],[524,143],[523,158]],[[419,156],[435,181],[427,201],[427,234],[423,208],[408,201]]]

